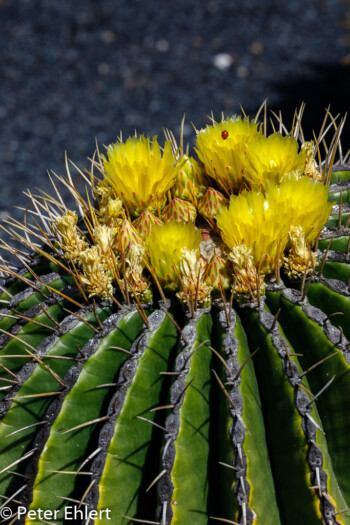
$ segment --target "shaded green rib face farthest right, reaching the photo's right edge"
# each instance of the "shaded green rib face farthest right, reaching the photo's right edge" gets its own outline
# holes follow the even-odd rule
[[[313,394],[317,394],[335,376],[332,384],[318,398],[317,412],[328,447],[328,452],[325,451],[325,470],[329,476],[330,496],[334,498],[337,510],[344,510],[344,500],[345,507],[350,506],[350,451],[347,438],[350,432],[350,366],[343,353],[328,339],[323,327],[310,318],[302,306],[293,304],[280,293],[269,293],[267,301],[273,312],[281,308],[280,323],[295,352],[302,354],[298,358],[302,370],[308,370],[322,359],[335,354],[311,370],[307,379]],[[323,317],[324,314],[320,320]],[[295,330],[295,326],[298,330]],[[349,522],[346,514],[338,519]]]

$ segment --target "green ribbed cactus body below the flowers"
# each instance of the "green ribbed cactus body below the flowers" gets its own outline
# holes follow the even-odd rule
[[[7,451],[0,456],[2,493],[23,487],[9,470],[29,475],[33,488],[24,488],[20,501],[31,502],[33,513],[56,510],[57,519],[51,522],[57,524],[68,523],[74,512],[79,522],[83,513],[73,510],[69,501],[80,501],[92,480],[95,488],[86,501],[89,511],[96,509],[96,522],[101,524],[110,521],[105,509],[114,516],[113,523],[121,524],[128,522],[123,516],[144,520],[163,516],[165,523],[174,524],[194,519],[208,523],[209,516],[241,523],[245,519],[246,523],[316,524],[322,522],[322,514],[332,512],[331,503],[338,510],[346,509],[349,301],[327,282],[323,279],[309,287],[316,307],[300,302],[300,292],[286,289],[268,292],[272,314],[242,307],[232,311],[230,327],[223,310],[203,311],[183,329],[186,343],[162,310],[151,315],[151,330],[144,328],[141,339],[142,320],[135,310],[116,316],[113,308],[102,307],[97,310],[102,328],[91,308],[83,310],[80,315],[91,328],[71,314],[59,321],[58,334],[44,333],[43,340],[38,340],[42,328],[28,321],[22,327],[27,328],[26,342],[36,345],[38,357],[50,363],[51,372],[37,362],[22,364],[21,384],[3,392],[0,433]],[[329,312],[339,309],[342,341],[334,326],[336,317],[331,318],[333,324],[324,321]],[[174,364],[176,341],[182,341],[183,350]],[[16,339],[11,342],[17,346],[13,353],[20,352],[23,345]],[[9,344],[4,351],[9,352]],[[303,379],[303,386],[317,393],[335,376],[303,413],[310,398],[298,387],[298,378],[334,351],[338,353],[310,371],[307,381]],[[19,358],[5,359],[11,365]],[[166,373],[172,370],[171,385],[167,378],[172,376]],[[152,411],[160,403],[165,408]],[[219,425],[215,429],[212,420]],[[164,427],[162,449],[162,430],[152,423]],[[152,469],[145,469],[146,464]],[[317,468],[322,493],[327,495],[321,496],[321,505],[317,488],[310,490],[317,486]],[[162,472],[157,503],[156,488],[146,489]],[[36,516],[27,522],[42,523]],[[346,514],[334,521],[349,522]]]

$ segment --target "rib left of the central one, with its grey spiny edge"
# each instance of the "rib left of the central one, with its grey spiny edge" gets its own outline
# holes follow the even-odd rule
[[[153,516],[156,506],[156,492],[145,492],[158,472],[157,447],[150,448],[151,438],[157,443],[155,435],[162,436],[152,425],[158,420],[153,409],[164,396],[162,373],[172,361],[178,337],[164,311],[155,310],[148,322],[149,328],[134,343],[132,357],[120,371],[120,386],[108,409],[110,418],[100,434],[101,451],[91,469],[96,483],[88,495],[90,508],[110,509],[116,525],[125,523],[123,516],[130,514]],[[143,471],[144,465],[148,468]],[[108,521],[101,517],[97,523]]]

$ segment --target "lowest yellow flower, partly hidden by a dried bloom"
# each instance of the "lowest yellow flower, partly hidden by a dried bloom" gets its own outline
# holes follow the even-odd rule
[[[180,287],[180,261],[183,250],[198,250],[201,232],[192,223],[168,222],[155,225],[147,240],[151,264],[162,286],[170,290]]]

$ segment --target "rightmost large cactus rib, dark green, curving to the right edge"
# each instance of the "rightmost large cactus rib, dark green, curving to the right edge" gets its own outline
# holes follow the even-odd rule
[[[327,316],[317,308],[300,303],[296,291],[285,290],[281,295],[268,296],[268,304],[276,309],[281,307],[280,319],[289,340],[296,352],[302,353],[299,358],[303,369],[310,370],[308,382],[313,392],[318,392],[329,379],[335,380],[317,401],[317,411],[322,428],[326,434],[327,447],[332,458],[335,480],[333,486],[339,485],[344,500],[349,506],[349,481],[346,465],[349,463],[349,450],[344,436],[349,431],[344,401],[349,396],[350,367],[348,343],[341,331],[332,326]],[[292,323],[298,323],[298,331],[293,330]],[[305,350],[307,349],[307,351]],[[327,357],[327,361],[325,359]],[[315,364],[317,373],[315,373]],[[331,477],[332,481],[332,477]],[[347,518],[344,516],[343,518]]]

